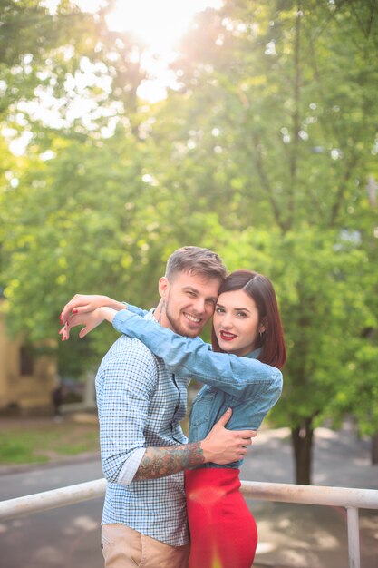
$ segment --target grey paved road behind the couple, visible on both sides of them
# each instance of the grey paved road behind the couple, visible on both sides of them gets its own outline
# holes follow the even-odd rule
[[[243,465],[242,479],[293,483],[287,430],[261,431]],[[315,432],[314,483],[378,489],[378,466],[369,444],[350,427]],[[98,459],[0,475],[0,500],[102,477]],[[248,502],[257,519],[260,568],[345,568],[344,509]],[[1,568],[102,568],[102,499],[0,524]],[[360,511],[362,568],[378,565],[378,511]],[[232,567],[228,567],[232,568]]]

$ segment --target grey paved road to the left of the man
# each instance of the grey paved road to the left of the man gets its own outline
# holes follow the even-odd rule
[[[99,460],[0,476],[0,500],[102,477]],[[0,523],[1,568],[103,568],[102,499]]]

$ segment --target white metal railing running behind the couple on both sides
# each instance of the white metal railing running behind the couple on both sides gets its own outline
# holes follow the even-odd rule
[[[102,497],[105,489],[106,480],[97,479],[9,499],[0,502],[0,521]],[[378,490],[242,481],[241,491],[246,497],[260,501],[344,507],[348,525],[348,566],[360,568],[358,509],[378,509]]]

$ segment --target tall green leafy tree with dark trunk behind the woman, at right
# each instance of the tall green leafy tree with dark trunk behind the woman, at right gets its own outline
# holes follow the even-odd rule
[[[274,235],[268,274],[289,345],[274,416],[291,427],[298,483],[311,480],[318,420],[348,410],[362,430],[378,426],[376,209],[365,189],[377,174],[376,12],[372,2],[225,2],[201,16],[176,64],[186,104],[169,117],[191,207],[218,215],[226,257],[235,231],[255,244],[252,234]],[[363,383],[364,404],[345,378]]]

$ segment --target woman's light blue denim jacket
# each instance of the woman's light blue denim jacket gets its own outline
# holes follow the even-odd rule
[[[145,312],[132,306],[119,311],[113,319],[114,328],[140,339],[165,361],[169,372],[205,384],[191,406],[189,442],[203,440],[228,407],[232,408],[228,429],[255,430],[260,426],[280,397],[283,381],[279,369],[257,361],[258,349],[245,357],[215,353],[201,338],[185,338],[138,313]],[[241,463],[227,467],[239,467]]]

